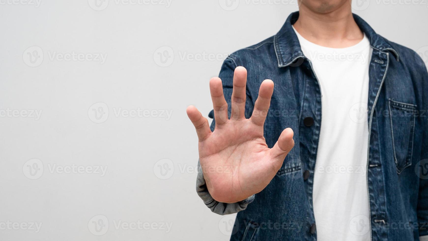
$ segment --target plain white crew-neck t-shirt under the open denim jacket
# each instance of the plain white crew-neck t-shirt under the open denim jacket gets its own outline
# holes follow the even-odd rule
[[[370,240],[366,179],[369,39],[364,36],[348,48],[327,48],[294,31],[321,86],[321,131],[312,194],[318,240]]]

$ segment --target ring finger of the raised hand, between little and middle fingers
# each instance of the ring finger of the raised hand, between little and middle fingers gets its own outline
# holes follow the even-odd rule
[[[227,116],[227,102],[223,95],[223,85],[220,78],[210,80],[211,99],[213,101],[214,119],[216,126],[223,125],[229,119]]]

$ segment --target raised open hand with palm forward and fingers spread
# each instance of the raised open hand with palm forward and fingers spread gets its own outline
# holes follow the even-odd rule
[[[273,93],[273,81],[264,80],[253,115],[246,119],[247,70],[237,67],[233,77],[232,112],[223,95],[220,78],[210,80],[215,129],[194,106],[187,107],[187,116],[199,138],[199,161],[211,196],[218,202],[239,202],[262,191],[281,168],[285,156],[294,146],[293,131],[282,131],[273,148],[263,137],[263,125]]]

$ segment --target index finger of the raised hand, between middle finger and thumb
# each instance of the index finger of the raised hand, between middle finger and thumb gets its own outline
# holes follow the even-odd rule
[[[273,81],[264,80],[260,85],[259,97],[254,104],[253,115],[250,120],[256,125],[265,124],[266,116],[268,115],[268,110],[270,106],[270,98],[273,93]]]

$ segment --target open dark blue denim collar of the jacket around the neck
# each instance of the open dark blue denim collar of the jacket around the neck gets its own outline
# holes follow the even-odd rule
[[[360,27],[360,29],[369,38],[372,48],[378,51],[390,51],[398,60],[397,51],[392,48],[386,39],[378,35],[375,30],[373,30],[372,27],[370,27],[370,25],[358,15],[353,14],[353,16],[358,27]],[[300,48],[299,39],[297,39],[293,27],[291,27],[291,25],[297,21],[297,18],[299,18],[299,12],[291,13],[281,30],[279,30],[279,32],[274,36],[273,42],[279,67],[288,66],[298,58],[306,58]]]

